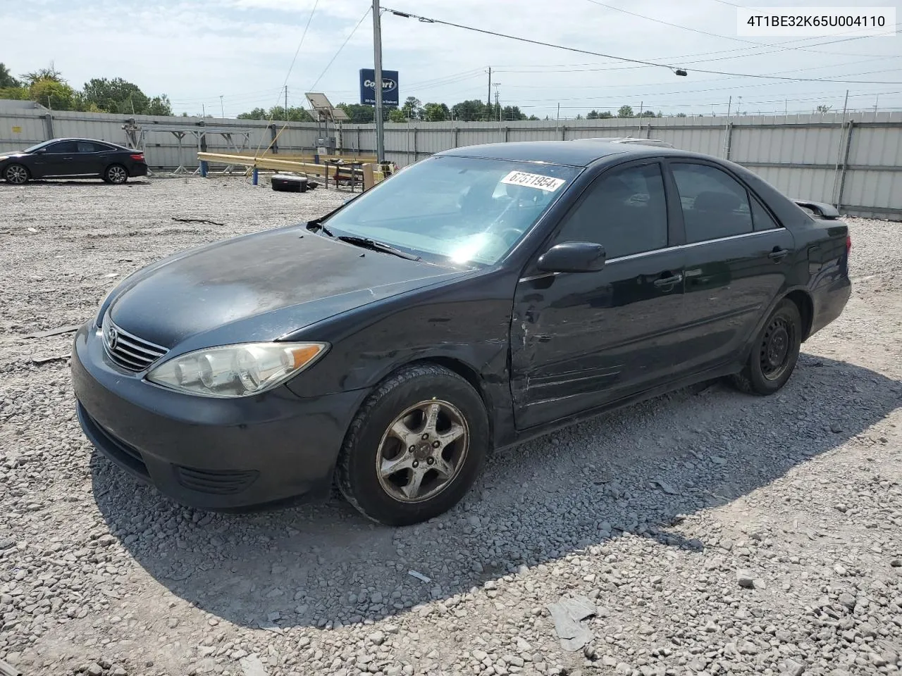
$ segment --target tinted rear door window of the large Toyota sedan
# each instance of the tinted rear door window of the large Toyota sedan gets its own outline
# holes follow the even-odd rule
[[[749,194],[735,178],[704,164],[670,166],[683,206],[686,242],[752,232]]]

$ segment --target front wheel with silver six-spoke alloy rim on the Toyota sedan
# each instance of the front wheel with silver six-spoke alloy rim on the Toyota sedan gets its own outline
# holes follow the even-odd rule
[[[373,521],[416,524],[464,497],[488,449],[488,415],[473,386],[437,364],[415,364],[382,380],[364,401],[336,483]]]

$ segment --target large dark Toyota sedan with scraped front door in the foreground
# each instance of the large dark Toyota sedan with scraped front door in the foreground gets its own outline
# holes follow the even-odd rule
[[[668,148],[438,153],[322,218],[138,271],[76,335],[100,452],[194,507],[411,524],[487,452],[697,381],[769,395],[850,296],[848,228]]]

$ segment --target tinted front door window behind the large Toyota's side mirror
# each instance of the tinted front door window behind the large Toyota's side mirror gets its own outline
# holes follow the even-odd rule
[[[602,244],[607,258],[667,246],[667,198],[658,163],[604,174],[567,216],[556,242]]]

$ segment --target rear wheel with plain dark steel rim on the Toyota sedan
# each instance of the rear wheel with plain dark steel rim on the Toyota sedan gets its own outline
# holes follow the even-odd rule
[[[745,368],[732,377],[742,392],[770,395],[786,385],[802,345],[802,315],[791,300],[782,300],[755,337]]]

